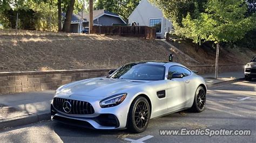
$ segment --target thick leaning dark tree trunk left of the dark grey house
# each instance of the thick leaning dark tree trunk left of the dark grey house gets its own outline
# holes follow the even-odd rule
[[[67,32],[67,33],[70,32],[71,17],[72,17],[73,10],[74,10],[74,4],[75,4],[75,0],[70,0],[68,10],[66,10],[65,21],[64,21],[63,28],[62,28],[63,32]]]

